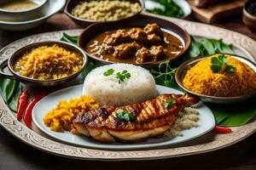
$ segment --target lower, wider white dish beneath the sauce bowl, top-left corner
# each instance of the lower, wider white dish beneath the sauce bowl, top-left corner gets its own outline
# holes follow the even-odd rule
[[[47,20],[51,15],[57,13],[61,8],[64,7],[65,0],[49,0],[49,8],[45,11],[45,15],[41,18],[35,20],[27,20],[20,22],[7,22],[0,19],[0,29],[7,31],[24,31],[32,29],[36,26],[41,25],[45,20]]]

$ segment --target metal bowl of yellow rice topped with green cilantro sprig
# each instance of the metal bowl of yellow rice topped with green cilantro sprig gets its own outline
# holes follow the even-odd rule
[[[209,103],[233,103],[256,94],[256,65],[234,54],[190,59],[177,68],[180,88]]]

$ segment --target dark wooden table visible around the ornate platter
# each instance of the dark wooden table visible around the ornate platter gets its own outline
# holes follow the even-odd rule
[[[187,20],[194,20],[188,18]],[[233,31],[239,31],[256,40],[256,34],[241,22],[241,16],[216,24]],[[55,14],[43,26],[32,31],[0,31],[0,48],[9,42],[32,34],[78,28],[64,14]],[[0,127],[0,169],[256,169],[256,133],[251,137],[222,150],[196,156],[184,156],[159,161],[99,162],[78,161],[52,156],[21,143]]]

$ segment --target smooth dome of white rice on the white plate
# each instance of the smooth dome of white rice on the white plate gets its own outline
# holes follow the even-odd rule
[[[129,79],[120,82],[114,76],[103,73],[113,69],[114,73],[128,71]],[[130,105],[154,98],[156,93],[154,77],[143,67],[129,64],[113,64],[97,67],[84,80],[83,94],[102,105]]]

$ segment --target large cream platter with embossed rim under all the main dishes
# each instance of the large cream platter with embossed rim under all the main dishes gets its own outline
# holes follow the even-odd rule
[[[236,54],[242,54],[255,62],[255,58],[253,58],[253,56],[256,56],[256,42],[249,37],[215,26],[207,26],[195,22],[165,17],[161,18],[171,20],[177,25],[182,26],[193,36],[222,38],[224,39],[224,42],[235,45]],[[63,31],[46,32],[12,42],[0,51],[0,61],[8,58],[16,49],[21,48],[26,44],[47,40],[59,40],[62,32]],[[69,30],[65,32],[71,35],[79,35],[81,30]],[[207,135],[202,136],[200,139],[195,139],[188,143],[177,144],[172,146],[172,148],[167,147],[152,150],[126,151],[95,150],[56,141],[39,131],[35,126],[32,129],[27,128],[22,122],[18,122],[16,120],[15,114],[9,111],[9,108],[4,104],[2,98],[0,99],[0,124],[9,133],[14,135],[15,138],[20,139],[22,142],[29,144],[38,150],[43,150],[58,156],[100,161],[149,160],[200,154],[212,150],[218,150],[227,147],[230,144],[235,144],[256,132],[256,121],[253,121],[242,127],[234,127],[233,133],[207,133]]]

